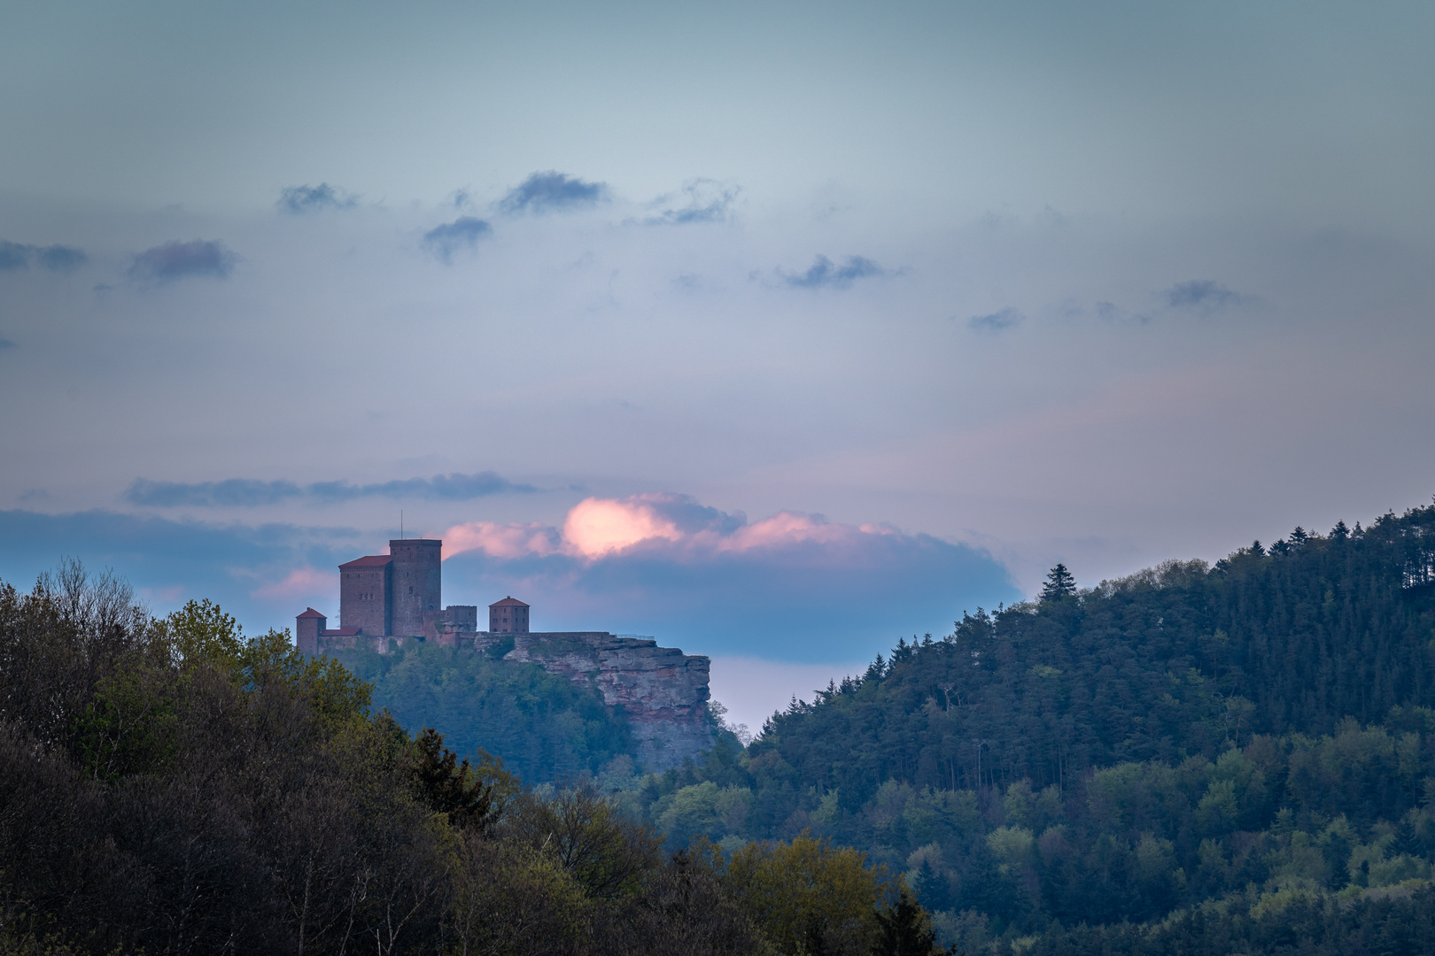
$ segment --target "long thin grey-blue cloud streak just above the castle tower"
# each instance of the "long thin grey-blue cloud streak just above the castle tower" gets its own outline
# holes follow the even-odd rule
[[[310,499],[320,505],[336,505],[357,497],[423,499],[433,502],[468,502],[475,497],[502,493],[537,492],[531,484],[517,484],[495,472],[475,474],[435,474],[375,484],[350,482],[316,482],[300,486],[294,482],[261,482],[257,479],[227,479],[224,482],[152,482],[135,479],[125,490],[125,500],[145,507],[257,507],[294,499]]]

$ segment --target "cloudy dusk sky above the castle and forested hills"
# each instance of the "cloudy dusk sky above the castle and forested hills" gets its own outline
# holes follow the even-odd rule
[[[1435,493],[1425,3],[0,21],[22,588],[263,632],[438,536],[446,602],[706,654],[759,727],[1056,562]]]

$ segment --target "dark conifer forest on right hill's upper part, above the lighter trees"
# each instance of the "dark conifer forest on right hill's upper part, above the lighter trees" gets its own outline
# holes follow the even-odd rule
[[[855,808],[887,780],[1040,790],[1435,705],[1435,506],[1083,592],[1062,572],[1040,601],[963,613],[949,638],[900,642],[794,702],[752,757]]]

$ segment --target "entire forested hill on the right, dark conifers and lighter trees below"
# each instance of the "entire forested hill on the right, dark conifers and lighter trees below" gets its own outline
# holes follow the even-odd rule
[[[1432,565],[1435,507],[1088,591],[1058,566],[623,798],[672,846],[858,847],[967,953],[1421,939]]]

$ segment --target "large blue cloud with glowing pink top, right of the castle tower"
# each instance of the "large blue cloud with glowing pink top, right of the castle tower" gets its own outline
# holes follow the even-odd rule
[[[511,593],[542,629],[650,634],[689,652],[857,659],[1020,596],[967,545],[799,512],[748,522],[683,494],[590,497],[561,527],[468,522],[442,537],[445,593]]]

